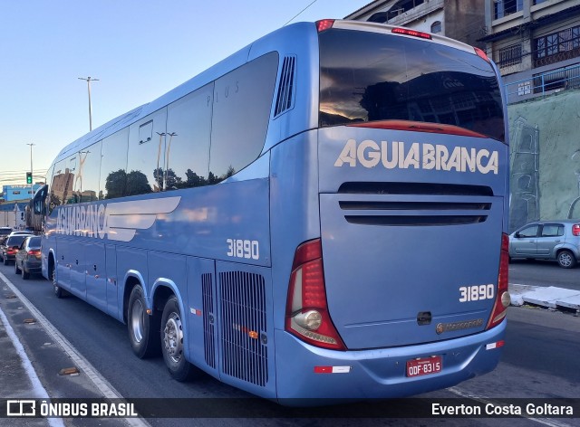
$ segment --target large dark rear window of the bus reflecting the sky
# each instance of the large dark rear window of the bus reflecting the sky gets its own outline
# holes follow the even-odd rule
[[[341,29],[319,39],[321,127],[412,120],[505,140],[498,79],[475,53]]]

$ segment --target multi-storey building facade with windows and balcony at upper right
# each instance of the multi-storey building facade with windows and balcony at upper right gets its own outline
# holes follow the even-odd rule
[[[486,0],[488,56],[509,103],[580,88],[580,0]]]

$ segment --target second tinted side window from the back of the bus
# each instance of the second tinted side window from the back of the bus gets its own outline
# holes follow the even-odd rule
[[[208,184],[213,84],[168,107],[164,190]]]

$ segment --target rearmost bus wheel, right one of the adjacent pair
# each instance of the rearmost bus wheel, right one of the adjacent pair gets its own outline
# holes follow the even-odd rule
[[[161,342],[163,359],[169,370],[169,374],[177,381],[191,379],[197,369],[191,365],[184,355],[183,325],[179,312],[178,299],[170,297],[163,308],[161,317]]]

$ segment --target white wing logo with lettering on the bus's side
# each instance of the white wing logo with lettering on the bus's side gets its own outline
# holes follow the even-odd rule
[[[58,209],[58,234],[131,242],[137,230],[147,230],[160,214],[169,214],[181,197],[163,197],[131,202],[63,206]]]

